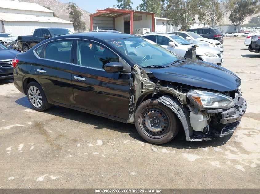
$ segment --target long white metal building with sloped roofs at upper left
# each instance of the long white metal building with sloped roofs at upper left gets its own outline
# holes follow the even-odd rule
[[[13,36],[32,35],[36,28],[47,27],[74,32],[72,22],[53,17],[53,11],[39,4],[0,0],[0,32]]]

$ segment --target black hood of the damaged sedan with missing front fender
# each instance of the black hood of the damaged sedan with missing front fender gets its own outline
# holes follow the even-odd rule
[[[230,70],[198,60],[187,59],[175,66],[149,70],[159,80],[221,92],[235,90],[241,84],[241,79]]]

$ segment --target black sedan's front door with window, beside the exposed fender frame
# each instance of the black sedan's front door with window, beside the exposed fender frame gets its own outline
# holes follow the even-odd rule
[[[119,57],[103,45],[78,41],[72,67],[75,106],[122,119],[129,118],[130,73],[107,73],[104,65]]]

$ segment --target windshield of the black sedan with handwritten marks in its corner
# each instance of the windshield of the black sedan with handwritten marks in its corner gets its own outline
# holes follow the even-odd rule
[[[141,67],[167,66],[183,59],[148,39],[126,38],[109,40],[109,43]]]

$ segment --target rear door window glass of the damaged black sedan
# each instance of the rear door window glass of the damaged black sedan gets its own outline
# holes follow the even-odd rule
[[[44,58],[70,63],[72,43],[72,40],[49,43],[45,48]]]

